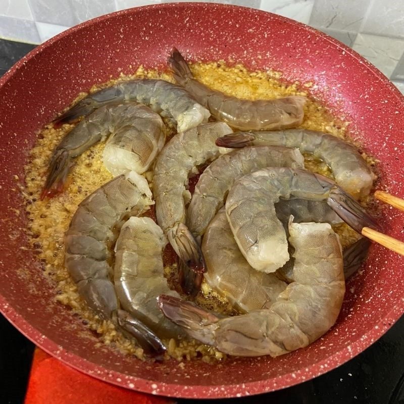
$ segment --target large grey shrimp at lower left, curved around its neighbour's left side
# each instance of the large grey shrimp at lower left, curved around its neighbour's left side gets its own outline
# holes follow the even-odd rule
[[[125,217],[147,210],[151,191],[147,181],[129,172],[87,196],[78,206],[65,234],[65,265],[88,306],[133,335],[150,354],[161,354],[160,339],[128,312],[119,310],[114,284],[112,248]]]

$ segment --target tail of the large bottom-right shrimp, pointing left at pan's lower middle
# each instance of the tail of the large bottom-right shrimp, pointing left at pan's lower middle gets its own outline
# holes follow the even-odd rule
[[[189,301],[162,294],[157,298],[160,310],[175,324],[201,342],[214,344],[214,331],[219,317],[197,307]]]

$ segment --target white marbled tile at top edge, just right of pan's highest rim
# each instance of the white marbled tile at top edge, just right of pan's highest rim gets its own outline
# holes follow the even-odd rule
[[[261,0],[260,9],[308,24],[314,0]]]

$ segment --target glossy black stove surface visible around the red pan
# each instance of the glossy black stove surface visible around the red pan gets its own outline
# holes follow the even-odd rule
[[[0,76],[33,47],[34,45],[0,39]],[[0,404],[23,402],[33,349],[34,345],[0,316]],[[213,402],[404,404],[404,316],[362,354],[305,383],[252,397],[222,400],[178,399],[178,404]]]

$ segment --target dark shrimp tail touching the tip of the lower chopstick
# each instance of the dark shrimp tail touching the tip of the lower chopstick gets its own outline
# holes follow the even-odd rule
[[[340,187],[334,187],[330,190],[327,204],[335,213],[352,229],[359,234],[364,227],[370,227],[380,231],[380,226],[376,223],[362,206],[352,196],[343,191]]]

